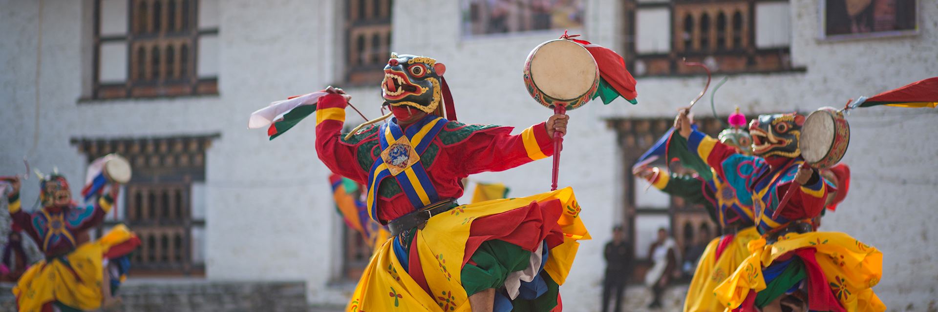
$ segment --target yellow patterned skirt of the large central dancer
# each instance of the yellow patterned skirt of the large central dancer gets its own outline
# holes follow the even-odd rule
[[[559,200],[564,207],[557,221],[564,232],[564,243],[550,250],[544,270],[562,285],[576,256],[578,240],[590,239],[578,217],[579,205],[569,187],[535,196],[482,201],[454,210],[459,214],[434,215],[423,230],[416,230],[411,248],[417,248],[420,265],[431,293],[423,290],[404,271],[386,240],[377,248],[358,281],[347,311],[471,311],[461,285],[461,260],[473,220],[529,205],[532,201]],[[448,262],[446,260],[449,260]]]

